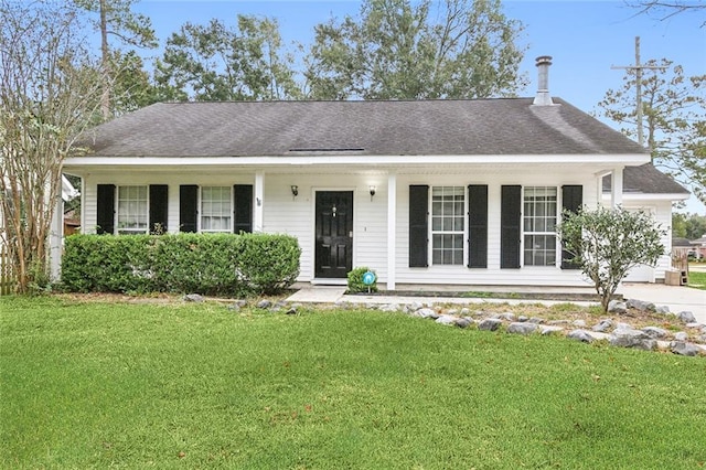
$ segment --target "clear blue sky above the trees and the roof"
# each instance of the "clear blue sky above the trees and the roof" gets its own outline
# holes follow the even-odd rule
[[[535,58],[550,55],[552,96],[586,113],[597,111],[606,92],[622,85],[625,71],[611,67],[635,64],[635,36],[640,38],[642,63],[667,58],[682,65],[685,76],[706,74],[706,26],[702,26],[706,10],[661,19],[639,14],[623,0],[505,0],[502,4],[505,15],[525,28],[518,45],[527,46],[521,72],[530,86],[521,96],[534,96]],[[160,45],[185,22],[206,24],[217,18],[235,25],[238,13],[276,18],[286,43],[310,44],[315,24],[332,17],[356,17],[360,7],[353,0],[141,0],[133,10],[151,19]],[[150,54],[159,55],[159,51]],[[706,215],[706,206],[694,196],[678,211]]]

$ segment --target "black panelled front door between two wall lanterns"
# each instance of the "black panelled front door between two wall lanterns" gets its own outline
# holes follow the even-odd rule
[[[314,276],[345,278],[353,268],[353,191],[317,192]]]

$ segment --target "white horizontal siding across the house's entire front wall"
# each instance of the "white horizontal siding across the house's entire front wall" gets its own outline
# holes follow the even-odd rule
[[[550,167],[532,170],[505,168],[501,170],[453,169],[434,172],[413,169],[397,169],[397,191],[395,221],[395,270],[397,284],[424,285],[535,285],[535,286],[586,286],[578,270],[563,270],[559,267],[500,268],[500,221],[501,186],[557,186],[581,184],[584,204],[595,207],[598,203],[598,184],[595,171],[578,171],[566,165],[560,170]],[[233,185],[255,184],[255,171],[233,170],[221,172],[197,172],[195,169],[173,169],[169,172],[120,171],[115,173],[92,173],[84,175],[83,227],[86,233],[95,232],[97,184],[168,184],[169,185],[169,232],[179,232],[179,186],[180,184]],[[291,185],[299,186],[299,195],[292,196]],[[408,267],[409,247],[409,185],[428,184],[459,185],[486,184],[489,190],[489,238],[488,268],[469,269],[462,266]],[[368,188],[376,186],[371,199]],[[353,191],[354,229],[353,267],[367,266],[378,275],[378,281],[387,279],[387,173],[383,170],[351,171],[345,174],[331,172],[303,173],[301,169],[291,173],[265,170],[263,196],[263,229],[266,233],[286,233],[297,237],[302,249],[300,281],[310,281],[314,273],[314,202],[317,191]],[[468,204],[468,202],[467,202]],[[560,207],[560,191],[558,205]],[[671,206],[652,203],[657,221],[668,226]],[[468,227],[467,227],[468,229]],[[665,241],[668,243],[668,239]],[[467,254],[468,256],[468,254]],[[668,267],[668,256],[660,260],[656,278],[664,277]]]

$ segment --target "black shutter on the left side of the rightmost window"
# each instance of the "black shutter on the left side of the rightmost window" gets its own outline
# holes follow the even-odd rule
[[[520,267],[522,186],[504,185],[501,193],[500,267]]]

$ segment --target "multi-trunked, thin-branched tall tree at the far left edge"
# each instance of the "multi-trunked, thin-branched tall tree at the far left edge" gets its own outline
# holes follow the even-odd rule
[[[71,7],[0,0],[0,243],[19,292],[47,280],[62,164],[99,103],[99,67],[81,31]]]

